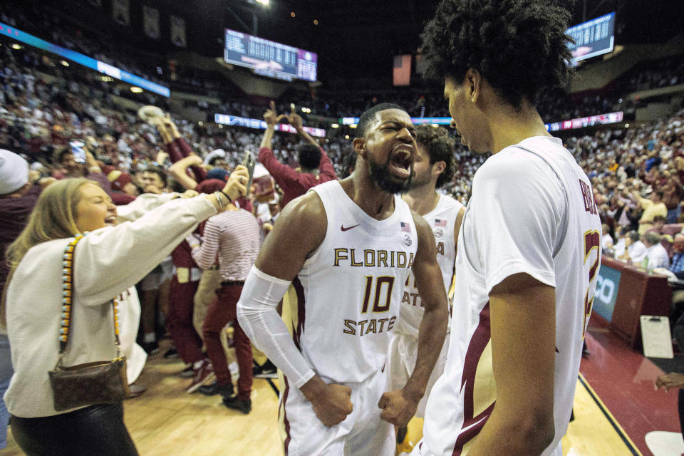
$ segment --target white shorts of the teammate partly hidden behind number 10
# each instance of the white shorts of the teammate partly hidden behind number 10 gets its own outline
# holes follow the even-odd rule
[[[437,358],[435,368],[432,369],[432,374],[427,380],[427,388],[425,388],[425,395],[418,403],[418,409],[415,410],[415,416],[423,418],[425,416],[425,405],[427,404],[427,396],[430,395],[432,385],[435,385],[437,378],[444,372],[444,366],[447,363],[447,349],[449,348],[449,333],[444,339],[440,357]],[[408,378],[413,373],[415,368],[415,360],[418,358],[418,337],[409,336],[404,333],[393,332],[390,336],[390,345],[387,355],[387,370],[390,375],[390,391],[400,390],[404,388]]]

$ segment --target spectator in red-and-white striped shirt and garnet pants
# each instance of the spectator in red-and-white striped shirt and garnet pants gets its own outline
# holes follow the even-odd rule
[[[211,268],[218,257],[222,279],[221,288],[217,289],[212,304],[209,304],[202,326],[204,345],[207,347],[216,380],[210,385],[199,386],[199,391],[206,395],[220,394],[228,408],[247,414],[252,410],[252,343],[240,328],[236,312],[244,279],[259,253],[259,224],[250,212],[230,204],[225,212],[209,218],[204,227],[202,242],[195,236],[189,236],[186,240],[192,247],[192,258],[200,268]],[[223,328],[231,321],[235,355],[240,369],[236,397],[232,397],[230,371],[219,338]],[[203,381],[208,379],[204,378]]]

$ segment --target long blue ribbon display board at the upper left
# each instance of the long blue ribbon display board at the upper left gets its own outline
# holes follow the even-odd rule
[[[100,73],[116,78],[119,81],[125,83],[133,84],[145,90],[150,90],[150,92],[158,93],[159,95],[170,97],[171,90],[168,87],[162,86],[152,81],[147,81],[145,78],[140,76],[135,76],[128,71],[123,71],[120,68],[111,66],[108,63],[100,62],[88,56],[84,56],[82,53],[76,51],[71,51],[71,49],[63,48],[62,46],[57,46],[56,44],[49,43],[48,41],[41,40],[36,36],[19,30],[19,28],[9,26],[0,22],[0,35],[9,36],[16,41],[21,41],[22,43],[28,44],[28,46],[33,46],[34,48],[41,49],[43,51],[48,51],[53,54],[57,54],[60,57],[67,58],[79,65],[86,66]]]

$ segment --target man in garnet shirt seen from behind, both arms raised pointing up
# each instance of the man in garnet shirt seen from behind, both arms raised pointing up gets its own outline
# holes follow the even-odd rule
[[[283,165],[271,150],[275,125],[281,118],[286,118],[296,128],[297,133],[306,140],[305,144],[297,146],[299,171]],[[266,167],[284,192],[281,207],[285,207],[285,204],[292,199],[304,195],[311,187],[337,179],[328,155],[314,138],[304,131],[299,115],[294,111],[290,115],[276,115],[276,103],[271,101],[271,108],[264,113],[264,120],[267,126],[259,148],[259,162]]]

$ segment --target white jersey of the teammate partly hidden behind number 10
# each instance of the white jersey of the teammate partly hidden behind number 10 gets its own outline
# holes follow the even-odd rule
[[[432,234],[435,236],[437,263],[440,264],[444,289],[447,293],[454,278],[454,261],[456,259],[454,227],[461,207],[463,207],[463,204],[457,202],[452,197],[440,194],[440,199],[435,209],[423,215],[427,224],[430,225],[430,229],[432,229]],[[423,321],[425,311],[423,309],[423,301],[421,301],[418,294],[418,288],[415,286],[413,273],[410,274],[405,285],[406,288],[401,298],[401,309],[395,331],[418,337],[418,329],[420,328],[420,322]]]

